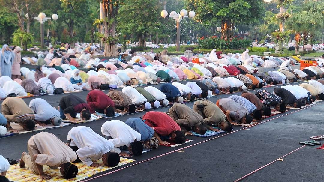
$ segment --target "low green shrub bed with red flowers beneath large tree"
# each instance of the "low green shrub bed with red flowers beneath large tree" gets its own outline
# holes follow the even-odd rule
[[[232,40],[223,40],[219,38],[201,38],[198,41],[203,49],[238,49],[246,48],[251,44],[251,40],[244,39],[232,39]]]

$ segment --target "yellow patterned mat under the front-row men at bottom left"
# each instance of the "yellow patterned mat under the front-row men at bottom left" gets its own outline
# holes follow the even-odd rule
[[[136,160],[121,157],[120,162],[116,167],[121,166],[121,165],[125,165],[125,164],[130,163],[130,162],[134,162],[134,161],[136,161]],[[104,166],[101,159],[99,159],[98,161],[94,161],[94,162]],[[65,182],[65,181],[76,182],[76,181],[81,181],[81,180],[86,179],[87,177],[91,177],[91,176],[93,176],[93,175],[95,175],[97,173],[107,171],[109,169],[114,168],[114,167],[108,167],[108,166],[90,167],[90,166],[86,166],[82,162],[74,163],[74,165],[76,165],[78,167],[78,174],[77,174],[77,176],[75,178],[72,178],[72,179],[63,178],[62,174],[60,173],[60,168],[51,169],[49,166],[44,165],[44,172],[46,174],[52,176],[52,179],[46,180],[46,182]],[[10,165],[10,168],[7,171],[6,177],[10,181],[15,181],[15,182],[26,182],[26,181],[43,182],[43,181],[45,181],[45,180],[41,180],[39,175],[36,175],[31,170],[29,170],[27,165],[25,166],[25,168],[20,168],[19,164]]]

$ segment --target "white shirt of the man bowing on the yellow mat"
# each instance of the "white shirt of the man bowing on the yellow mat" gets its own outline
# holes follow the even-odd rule
[[[103,154],[110,152],[114,144],[86,126],[72,128],[67,134],[71,146],[77,146],[76,151],[80,160],[87,166],[92,165],[91,160],[98,160]],[[111,151],[113,152],[113,151]]]

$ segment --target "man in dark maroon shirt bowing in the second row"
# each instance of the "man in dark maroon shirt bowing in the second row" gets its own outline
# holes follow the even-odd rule
[[[88,105],[98,113],[105,113],[107,117],[115,116],[115,103],[101,90],[92,90],[87,95]]]

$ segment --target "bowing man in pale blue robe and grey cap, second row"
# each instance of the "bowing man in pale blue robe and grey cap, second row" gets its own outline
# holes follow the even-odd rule
[[[53,108],[46,100],[34,98],[29,102],[29,108],[35,112],[35,121],[41,126],[52,123],[59,126],[62,123],[60,111]]]

